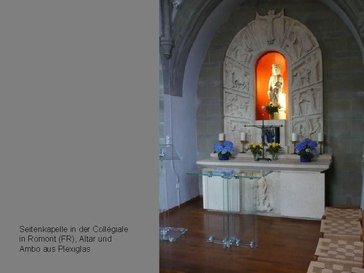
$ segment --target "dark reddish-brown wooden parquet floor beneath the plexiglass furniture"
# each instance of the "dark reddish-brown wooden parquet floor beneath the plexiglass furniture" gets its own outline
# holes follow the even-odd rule
[[[223,248],[206,242],[205,213],[202,198],[170,211],[169,225],[189,230],[159,243],[160,272],[306,272],[319,242],[320,220],[258,216],[257,248]]]

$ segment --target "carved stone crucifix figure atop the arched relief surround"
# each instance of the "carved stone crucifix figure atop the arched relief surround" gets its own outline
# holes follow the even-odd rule
[[[275,20],[280,19],[280,24],[275,24]],[[283,10],[275,14],[274,10],[269,10],[268,15],[261,16],[258,13],[256,13],[255,21],[257,22],[257,32],[260,32],[263,28],[265,28],[266,31],[266,41],[268,44],[273,44],[275,40],[277,39],[277,32],[283,33],[284,31],[284,18],[283,18]]]

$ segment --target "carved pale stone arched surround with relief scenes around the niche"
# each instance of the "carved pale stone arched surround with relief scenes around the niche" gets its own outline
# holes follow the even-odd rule
[[[281,144],[291,145],[292,132],[298,134],[299,140],[317,140],[317,134],[324,131],[321,49],[307,27],[284,16],[283,10],[278,14],[269,11],[266,16],[256,14],[255,20],[236,34],[226,51],[223,62],[226,140],[240,145],[240,132],[246,132],[247,141],[260,142],[260,132],[244,125],[261,124],[256,113],[256,65],[269,52],[278,52],[287,60],[288,115],[284,122],[280,121],[284,125]],[[276,123],[267,120],[265,124]]]

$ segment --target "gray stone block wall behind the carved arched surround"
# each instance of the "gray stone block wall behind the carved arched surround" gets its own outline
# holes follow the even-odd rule
[[[306,25],[323,53],[325,152],[333,154],[327,172],[327,205],[359,205],[364,140],[364,66],[359,47],[342,20],[321,2],[246,1],[216,32],[203,62],[197,88],[198,158],[212,152],[223,131],[223,58],[234,36],[255,12],[281,11]]]

